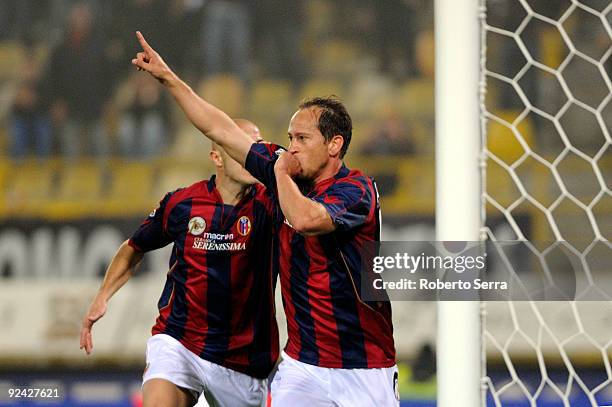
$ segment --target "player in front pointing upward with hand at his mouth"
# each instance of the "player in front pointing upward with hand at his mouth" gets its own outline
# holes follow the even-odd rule
[[[331,98],[299,106],[289,151],[253,143],[221,110],[170,70],[137,33],[132,63],[163,83],[189,120],[262,181],[276,200],[289,340],[272,383],[273,406],[397,406],[389,302],[360,296],[359,249],[378,241],[373,181],[342,162],[351,140],[346,109]]]

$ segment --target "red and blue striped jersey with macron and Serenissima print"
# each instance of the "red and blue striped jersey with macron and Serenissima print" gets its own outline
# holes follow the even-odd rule
[[[272,213],[262,185],[235,206],[208,181],[168,193],[129,240],[146,252],[174,243],[153,334],[210,362],[266,378],[278,359]]]

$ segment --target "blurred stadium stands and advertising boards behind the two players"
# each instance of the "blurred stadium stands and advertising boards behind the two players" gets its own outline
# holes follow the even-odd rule
[[[535,3],[553,14],[566,6]],[[516,7],[494,0],[489,13],[516,27],[524,17]],[[583,23],[577,15],[566,30],[589,46]],[[383,239],[426,241],[434,239],[433,24],[429,0],[2,0],[0,389],[58,387],[60,403],[79,406],[127,406],[138,397],[168,251],[148,255],[113,298],[89,357],[78,349],[81,318],[119,244],[166,191],[213,168],[209,143],[130,65],[136,29],[198,93],[251,119],[270,141],[286,144],[304,97],[341,97],[355,127],[347,164],[378,181]],[[523,36],[547,64],[562,58],[562,39],[550,29],[532,26]],[[489,47],[492,65],[517,60],[510,47]],[[529,97],[554,98],[540,79],[527,77]],[[489,89],[487,107],[500,117],[519,104],[512,91]],[[570,117],[568,125],[582,148],[601,145],[581,123]],[[558,149],[538,140],[537,119],[523,127],[530,142]],[[506,129],[489,132],[498,156],[518,154]],[[545,176],[535,165],[525,171]],[[509,193],[498,175],[489,187]],[[584,179],[580,171],[568,177]],[[520,211],[545,236],[541,219]],[[394,304],[402,405],[434,404],[435,318],[433,303]],[[2,391],[5,403],[15,405]]]

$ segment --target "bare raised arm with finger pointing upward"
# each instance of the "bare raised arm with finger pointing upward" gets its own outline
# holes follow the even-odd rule
[[[136,37],[142,52],[136,54],[132,64],[164,84],[189,121],[206,137],[223,147],[234,160],[244,165],[253,140],[225,112],[202,99],[183,82],[147,43],[140,31],[136,32]]]

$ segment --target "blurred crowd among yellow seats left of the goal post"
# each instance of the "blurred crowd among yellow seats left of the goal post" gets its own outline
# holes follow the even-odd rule
[[[427,150],[432,7],[428,0],[384,7],[369,0],[4,0],[0,143],[14,159],[147,160],[179,151],[184,120],[162,87],[130,65],[140,30],[196,91],[276,141],[285,141],[295,103],[324,93],[344,99],[362,137],[376,141],[362,142],[364,153]],[[397,103],[397,92],[408,102]]]

